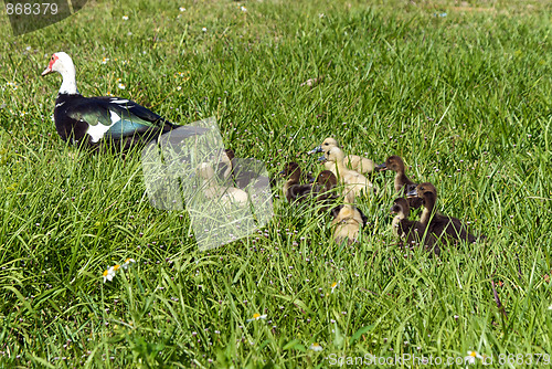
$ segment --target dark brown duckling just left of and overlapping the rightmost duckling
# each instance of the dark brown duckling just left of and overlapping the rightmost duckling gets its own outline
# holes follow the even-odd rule
[[[433,252],[437,256],[440,254],[440,250],[436,244],[437,240],[433,234],[426,234],[424,240],[425,225],[421,222],[408,220],[410,205],[406,199],[395,199],[391,212],[396,214],[393,218],[392,229],[399,239],[405,241],[405,243],[401,242],[402,245],[412,246],[424,241],[424,246],[427,251]]]

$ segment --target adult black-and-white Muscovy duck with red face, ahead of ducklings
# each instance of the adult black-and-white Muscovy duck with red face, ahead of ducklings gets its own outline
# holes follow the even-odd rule
[[[206,128],[179,126],[121,97],[84,97],[76,88],[75,66],[64,52],[52,54],[46,75],[57,72],[63,82],[55,101],[55,129],[64,140],[96,148],[112,141],[115,148],[127,150],[138,143],[148,143],[159,135],[179,128],[179,137],[202,134]]]

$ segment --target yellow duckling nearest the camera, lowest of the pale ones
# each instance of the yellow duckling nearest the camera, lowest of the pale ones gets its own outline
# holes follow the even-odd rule
[[[333,240],[341,243],[347,240],[347,244],[352,244],[358,238],[362,226],[367,224],[368,218],[360,209],[352,205],[354,201],[353,192],[346,196],[346,203],[331,210],[333,220],[331,225],[333,230]]]

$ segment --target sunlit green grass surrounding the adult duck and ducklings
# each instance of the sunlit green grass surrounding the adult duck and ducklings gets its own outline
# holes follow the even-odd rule
[[[19,38],[1,17],[0,367],[552,354],[551,10],[91,1]],[[328,218],[276,199],[258,234],[201,253],[185,214],[150,207],[139,152],[88,156],[57,137],[61,78],[40,78],[56,51],[73,56],[85,96],[109,92],[180,123],[215,116],[226,146],[272,173],[288,160],[320,170],[306,151],[327,136],[376,161],[401,155],[436,184],[438,209],[488,242],[438,260],[400,250],[392,177],[380,173],[379,194],[359,200],[360,244],[336,245]],[[137,263],[104,284],[126,257]],[[255,313],[267,318],[248,323]]]

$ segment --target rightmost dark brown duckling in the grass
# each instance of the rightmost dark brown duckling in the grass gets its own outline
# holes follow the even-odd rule
[[[446,236],[452,240],[464,240],[470,243],[477,241],[477,238],[470,234],[467,228],[457,218],[446,217],[434,212],[437,201],[437,189],[429,182],[420,183],[407,196],[417,196],[423,199],[424,210],[420,222],[427,228],[427,232],[434,234],[437,239]]]

